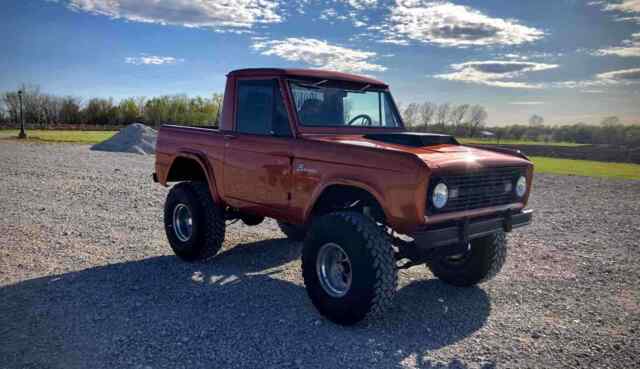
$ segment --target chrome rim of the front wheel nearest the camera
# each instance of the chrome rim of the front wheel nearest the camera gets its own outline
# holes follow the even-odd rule
[[[316,272],[322,289],[330,296],[342,297],[349,292],[353,274],[351,260],[340,245],[333,242],[322,245]]]

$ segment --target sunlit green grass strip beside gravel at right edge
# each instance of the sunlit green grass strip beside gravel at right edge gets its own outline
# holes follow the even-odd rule
[[[533,156],[530,159],[535,164],[536,173],[640,179],[640,164],[543,158],[540,156]]]

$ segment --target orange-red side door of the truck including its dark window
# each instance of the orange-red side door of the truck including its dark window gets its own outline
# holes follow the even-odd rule
[[[238,80],[235,118],[234,132],[225,135],[225,196],[267,213],[286,209],[292,134],[278,81]]]

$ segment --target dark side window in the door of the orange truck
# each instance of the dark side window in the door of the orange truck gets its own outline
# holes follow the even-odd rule
[[[275,79],[238,81],[237,131],[289,137],[289,117]]]

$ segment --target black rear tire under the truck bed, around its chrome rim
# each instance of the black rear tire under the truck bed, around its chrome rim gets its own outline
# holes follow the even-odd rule
[[[173,210],[185,204],[191,212],[191,237],[181,241],[173,229]],[[173,252],[186,261],[206,260],[215,256],[224,242],[224,209],[213,202],[204,182],[181,182],[171,188],[164,207],[164,227]]]

